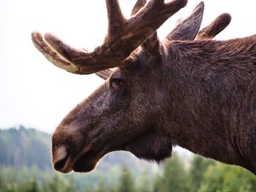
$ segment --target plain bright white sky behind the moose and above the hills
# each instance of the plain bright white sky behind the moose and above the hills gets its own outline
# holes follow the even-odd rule
[[[120,0],[127,17],[135,1]],[[159,29],[159,37],[199,2],[189,0]],[[233,20],[217,39],[255,34],[255,7],[255,0],[206,0],[203,26],[229,12]],[[93,50],[101,45],[107,22],[103,0],[0,0],[0,128],[23,124],[52,132],[103,82],[94,74],[70,74],[50,64],[31,43],[31,31],[51,31],[70,45]]]

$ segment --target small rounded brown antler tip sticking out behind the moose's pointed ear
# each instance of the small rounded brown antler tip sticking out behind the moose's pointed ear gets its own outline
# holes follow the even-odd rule
[[[200,30],[197,34],[197,40],[213,39],[219,32],[223,31],[231,21],[231,15],[222,13],[210,25]]]

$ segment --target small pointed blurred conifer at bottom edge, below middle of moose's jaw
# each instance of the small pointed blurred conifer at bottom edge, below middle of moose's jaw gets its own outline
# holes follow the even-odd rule
[[[118,192],[134,192],[135,182],[127,166],[123,166],[118,185]]]

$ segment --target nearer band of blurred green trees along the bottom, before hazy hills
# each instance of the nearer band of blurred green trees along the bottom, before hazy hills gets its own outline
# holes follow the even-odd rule
[[[256,177],[238,166],[229,166],[195,155],[189,166],[177,154],[157,172],[131,171],[129,166],[94,174],[57,174],[37,167],[0,168],[1,192],[255,192]]]

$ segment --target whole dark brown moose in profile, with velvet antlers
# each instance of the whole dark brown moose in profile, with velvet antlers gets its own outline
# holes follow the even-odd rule
[[[54,131],[57,171],[90,172],[116,150],[159,162],[178,145],[256,174],[256,36],[213,40],[230,15],[200,30],[201,2],[160,40],[157,29],[186,4],[138,0],[127,19],[106,0],[108,33],[92,52],[31,34],[54,65],[105,80]]]

